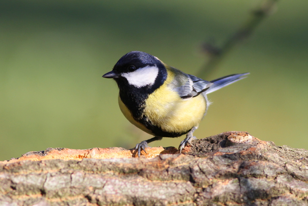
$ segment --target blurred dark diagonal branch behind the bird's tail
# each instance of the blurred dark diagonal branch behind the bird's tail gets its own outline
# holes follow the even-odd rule
[[[223,57],[236,46],[236,44],[249,37],[265,17],[273,13],[277,1],[278,0],[265,0],[262,2],[260,8],[253,10],[248,21],[231,35],[220,48],[210,42],[204,43],[202,45],[202,51],[209,56],[209,60],[205,63],[205,66],[199,70],[196,76],[205,78],[212,74]]]

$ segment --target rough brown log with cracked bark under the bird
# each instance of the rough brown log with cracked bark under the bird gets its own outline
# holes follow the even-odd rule
[[[184,154],[146,151],[48,148],[0,162],[0,205],[308,205],[307,150],[233,131]]]

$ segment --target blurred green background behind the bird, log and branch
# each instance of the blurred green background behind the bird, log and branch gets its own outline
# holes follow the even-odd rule
[[[0,160],[47,147],[132,148],[151,136],[122,115],[101,76],[140,50],[196,74],[201,44],[220,45],[261,1],[0,1]],[[194,133],[248,131],[308,149],[308,1],[279,1],[206,80],[250,72],[209,95]],[[178,147],[183,138],[150,146]]]

